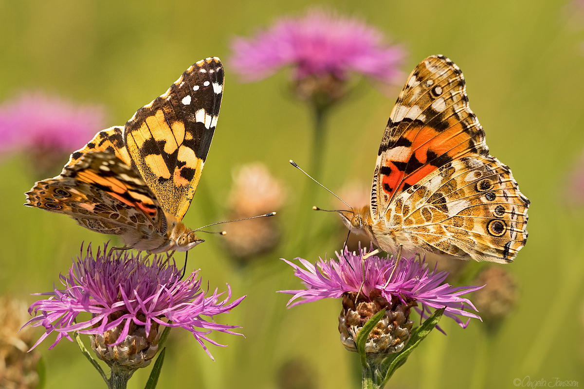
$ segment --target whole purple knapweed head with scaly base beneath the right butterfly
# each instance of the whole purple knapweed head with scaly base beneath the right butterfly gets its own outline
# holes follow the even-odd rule
[[[366,250],[351,253],[345,248],[342,255],[336,254],[336,260],[319,258],[314,265],[297,258],[304,268],[284,260],[294,268],[294,275],[301,279],[306,289],[280,292],[294,295],[288,301],[290,307],[343,297],[339,331],[343,345],[351,351],[356,351],[354,339],[363,325],[382,309],[387,309],[385,317],[371,331],[367,341],[366,351],[370,353],[387,354],[404,348],[412,330],[413,321],[409,320],[412,309],[418,312],[421,320],[429,317],[433,310],[446,307],[444,316],[453,318],[463,328],[470,318],[480,319],[467,310],[476,311],[463,295],[482,287],[454,288],[444,283],[447,272],[433,272],[415,257],[402,258],[396,268],[395,257],[371,256],[364,263],[363,273],[364,254]],[[463,321],[463,317],[467,320]]]

